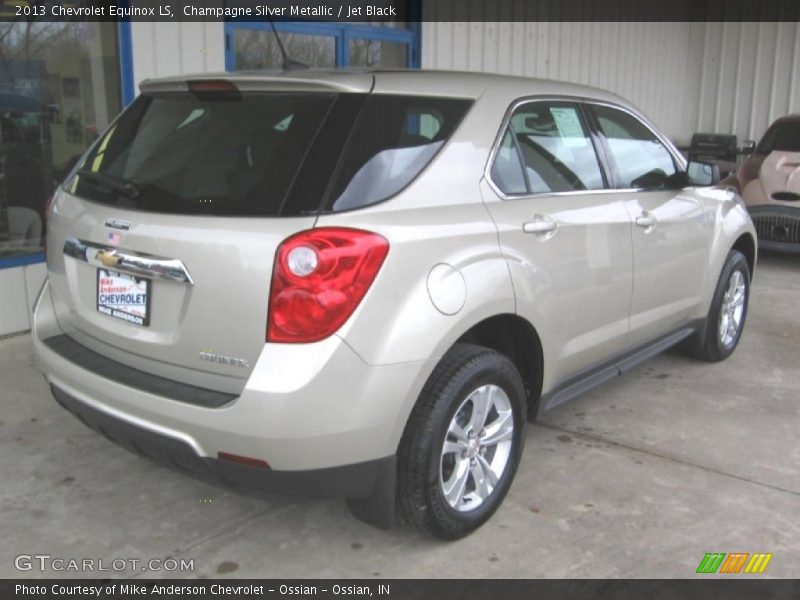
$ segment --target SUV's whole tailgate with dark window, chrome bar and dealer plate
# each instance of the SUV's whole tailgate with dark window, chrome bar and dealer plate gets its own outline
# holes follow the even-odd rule
[[[144,94],[59,193],[48,268],[59,324],[115,360],[178,381],[243,385],[265,340],[275,251],[313,227],[365,94]],[[285,85],[284,85],[285,88]]]

